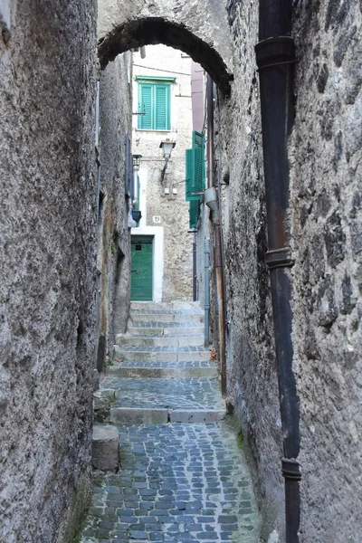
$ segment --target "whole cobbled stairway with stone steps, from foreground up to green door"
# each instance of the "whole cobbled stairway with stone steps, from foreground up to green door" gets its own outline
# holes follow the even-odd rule
[[[81,543],[259,541],[196,302],[131,303],[94,406],[97,476]]]

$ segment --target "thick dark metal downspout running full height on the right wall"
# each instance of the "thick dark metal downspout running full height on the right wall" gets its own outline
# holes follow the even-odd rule
[[[262,148],[268,223],[266,264],[271,276],[281,424],[282,475],[285,481],[286,542],[299,542],[300,409],[292,369],[291,271],[288,138],[294,119],[291,0],[260,0],[259,39],[255,46],[260,75]]]

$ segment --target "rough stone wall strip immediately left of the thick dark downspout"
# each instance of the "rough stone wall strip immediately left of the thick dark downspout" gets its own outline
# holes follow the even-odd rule
[[[224,231],[227,383],[262,510],[262,537],[282,532],[281,418],[273,347],[259,81],[258,6],[229,0],[234,82],[216,100],[215,161]]]

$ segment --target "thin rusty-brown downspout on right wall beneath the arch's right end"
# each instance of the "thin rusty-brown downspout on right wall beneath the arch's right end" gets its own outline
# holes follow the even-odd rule
[[[208,75],[206,84],[207,96],[207,186],[214,186],[214,92],[213,80]],[[220,202],[218,202],[220,205]],[[220,224],[220,212],[213,213],[214,224],[214,271],[217,295],[218,350],[221,372],[221,390],[226,394],[226,351],[225,351],[225,306],[224,306],[224,268],[223,241]]]

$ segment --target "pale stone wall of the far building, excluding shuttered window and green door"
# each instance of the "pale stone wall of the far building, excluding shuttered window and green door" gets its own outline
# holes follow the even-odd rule
[[[164,278],[162,300],[192,300],[192,234],[189,225],[188,202],[185,200],[185,150],[192,145],[191,113],[191,61],[182,53],[165,45],[148,46],[147,55],[141,59],[134,55],[136,76],[176,77],[171,83],[171,130],[138,130],[138,116],[134,116],[133,153],[142,155],[141,168],[147,170],[146,216],[140,226],[164,228]],[[144,67],[139,67],[144,66]],[[138,110],[138,85],[134,88],[134,111]],[[166,175],[161,180],[165,165],[159,145],[163,139],[176,141],[168,163]],[[165,194],[168,189],[169,194]],[[173,190],[176,189],[176,195]],[[155,224],[153,217],[160,223]],[[138,229],[132,230],[137,234]],[[157,265],[157,262],[155,262]]]

